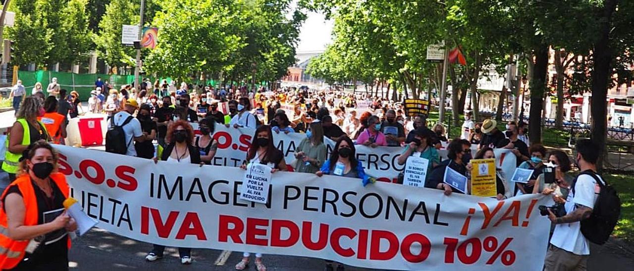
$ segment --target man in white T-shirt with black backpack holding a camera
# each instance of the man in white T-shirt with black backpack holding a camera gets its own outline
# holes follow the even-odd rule
[[[586,270],[590,243],[604,244],[620,213],[616,191],[597,173],[600,147],[589,139],[576,144],[576,163],[581,170],[566,199],[566,215],[557,217],[548,209],[555,224],[544,270]]]

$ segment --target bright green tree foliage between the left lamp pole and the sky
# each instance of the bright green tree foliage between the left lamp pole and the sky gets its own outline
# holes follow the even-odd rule
[[[295,63],[299,10],[286,18],[289,0],[164,1],[152,25],[159,42],[147,72],[180,79],[223,72],[236,81],[273,81]]]

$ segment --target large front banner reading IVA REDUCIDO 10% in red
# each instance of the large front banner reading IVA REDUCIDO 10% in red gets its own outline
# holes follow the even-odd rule
[[[541,270],[546,254],[541,194],[496,201],[276,172],[268,203],[259,204],[240,199],[240,168],[56,148],[72,196],[98,227],[146,243],[401,270]]]

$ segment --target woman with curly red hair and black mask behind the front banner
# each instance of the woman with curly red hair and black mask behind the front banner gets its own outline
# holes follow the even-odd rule
[[[198,149],[191,144],[194,139],[194,130],[191,128],[190,123],[185,120],[177,120],[167,128],[167,135],[165,136],[165,147],[162,154],[160,154],[161,161],[168,161],[171,163],[192,163],[204,165],[200,161],[200,153]],[[158,158],[154,158],[156,163]],[[154,262],[163,258],[163,251],[165,246],[154,244],[152,251],[145,256],[145,260],[148,262]],[[191,264],[191,248],[178,248],[178,254],[181,256],[181,263],[183,265]]]

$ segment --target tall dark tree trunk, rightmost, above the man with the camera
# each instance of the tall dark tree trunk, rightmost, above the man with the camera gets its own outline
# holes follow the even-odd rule
[[[612,72],[612,48],[610,47],[610,28],[612,22],[612,14],[616,8],[616,0],[605,0],[604,2],[604,18],[598,20],[600,22],[600,35],[594,44],[593,53],[593,69],[592,69],[592,141],[600,148],[598,151],[602,153],[597,161],[597,169],[603,167],[603,160],[607,151],[605,149],[605,137],[607,136],[607,106],[605,99],[607,98],[607,87]]]

